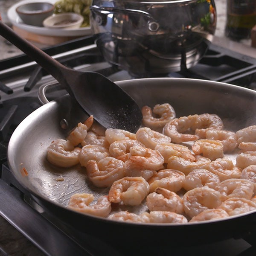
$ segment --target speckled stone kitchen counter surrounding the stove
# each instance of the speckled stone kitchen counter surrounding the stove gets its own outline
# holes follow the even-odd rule
[[[5,23],[11,26],[6,15],[7,10],[17,0],[0,0],[0,13]],[[217,27],[213,44],[232,49],[250,57],[256,58],[256,48],[250,47],[250,40],[242,40],[240,42],[231,41],[224,35],[224,27],[226,23],[226,0],[215,0],[217,9]],[[38,44],[38,47],[44,45]],[[22,52],[17,47],[10,44],[4,38],[0,37],[0,60],[20,55]],[[19,231],[17,231],[8,221],[0,216],[0,256],[43,256],[34,244],[26,239]]]

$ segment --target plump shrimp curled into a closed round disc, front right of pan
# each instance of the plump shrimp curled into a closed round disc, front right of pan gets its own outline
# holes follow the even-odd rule
[[[189,190],[183,196],[184,211],[191,218],[205,210],[214,209],[220,204],[221,193],[208,186]]]

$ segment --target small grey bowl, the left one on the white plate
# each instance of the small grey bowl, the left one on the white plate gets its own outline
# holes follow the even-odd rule
[[[16,8],[22,21],[33,26],[43,26],[43,21],[52,15],[53,10],[54,5],[46,2],[25,3]]]

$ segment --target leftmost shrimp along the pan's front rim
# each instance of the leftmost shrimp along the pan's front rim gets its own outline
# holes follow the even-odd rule
[[[91,204],[94,200],[92,194],[74,194],[70,198],[68,208],[77,212],[82,212],[99,217],[107,217],[111,212],[111,202],[108,196],[100,196],[96,203]]]

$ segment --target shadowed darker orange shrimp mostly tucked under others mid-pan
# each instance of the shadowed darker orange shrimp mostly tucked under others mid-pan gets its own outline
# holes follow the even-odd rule
[[[143,177],[145,180],[149,180],[156,171],[147,170],[143,167],[134,165],[134,162],[127,160],[125,161],[125,176],[128,177]]]

